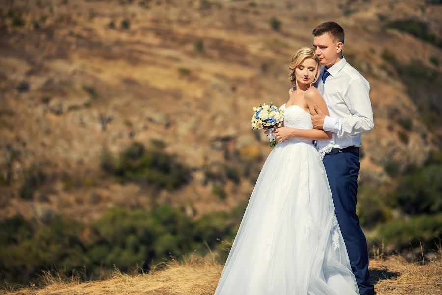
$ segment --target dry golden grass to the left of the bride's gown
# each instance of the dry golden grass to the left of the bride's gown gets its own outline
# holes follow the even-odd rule
[[[138,275],[121,273],[115,268],[111,277],[100,281],[80,282],[76,278],[45,273],[42,280],[46,287],[23,288],[0,294],[7,295],[97,295],[97,294],[192,294],[207,295],[214,292],[222,265],[215,261],[214,255],[204,258],[196,255],[184,256],[183,261],[175,258],[156,265],[151,272]]]

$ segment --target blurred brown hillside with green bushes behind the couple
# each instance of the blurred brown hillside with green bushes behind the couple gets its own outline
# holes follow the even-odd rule
[[[286,102],[292,54],[328,20],[371,86],[371,255],[439,257],[440,15],[421,0],[0,1],[0,280],[146,272],[204,242],[222,256],[270,152],[252,107]]]

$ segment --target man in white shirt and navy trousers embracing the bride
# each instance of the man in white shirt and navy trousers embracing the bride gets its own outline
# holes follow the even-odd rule
[[[315,129],[335,133],[331,152],[324,156],[336,217],[361,295],[373,295],[368,274],[367,241],[356,215],[361,133],[373,129],[368,81],[342,55],[344,29],[326,22],[313,30],[313,47],[322,65],[318,89],[330,116],[315,106]]]

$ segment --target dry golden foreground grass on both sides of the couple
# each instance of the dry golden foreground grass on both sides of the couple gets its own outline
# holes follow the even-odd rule
[[[183,261],[175,258],[158,264],[150,273],[130,275],[118,269],[111,277],[100,281],[80,282],[75,277],[66,278],[45,273],[42,280],[45,287],[23,288],[0,291],[4,295],[97,295],[97,294],[146,294],[146,295],[209,295],[213,294],[223,266],[215,255],[204,258],[195,255],[184,256]],[[410,263],[401,256],[370,261],[371,280],[377,295],[439,295],[442,294],[442,259]]]

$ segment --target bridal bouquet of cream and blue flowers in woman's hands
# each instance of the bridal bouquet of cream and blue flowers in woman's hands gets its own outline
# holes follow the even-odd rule
[[[253,112],[252,130],[271,127],[267,129],[269,131],[270,146],[275,147],[275,136],[272,134],[275,128],[273,126],[282,126],[284,111],[276,108],[271,102],[270,105],[263,103],[259,107],[253,107]]]

